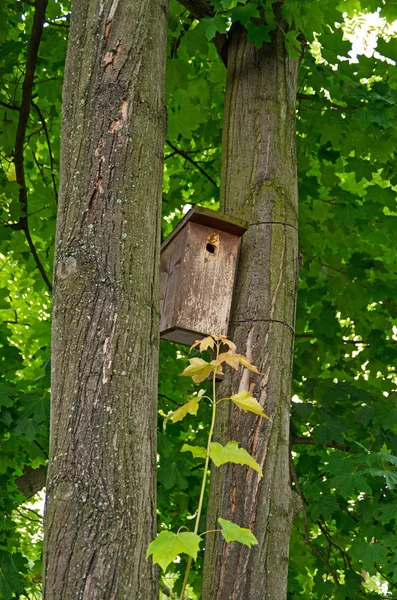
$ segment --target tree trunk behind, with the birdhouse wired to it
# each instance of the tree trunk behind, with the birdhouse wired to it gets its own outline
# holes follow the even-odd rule
[[[289,413],[298,276],[295,99],[298,63],[277,29],[257,49],[239,25],[230,32],[223,131],[223,212],[249,222],[243,238],[231,337],[262,372],[227,375],[221,396],[248,389],[272,422],[223,402],[217,438],[241,442],[263,478],[241,466],[211,471],[207,529],[217,519],[249,527],[248,550],[206,539],[204,600],[285,600],[294,495]]]

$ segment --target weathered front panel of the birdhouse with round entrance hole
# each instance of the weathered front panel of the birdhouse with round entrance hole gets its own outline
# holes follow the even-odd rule
[[[227,335],[240,238],[188,223],[176,325]]]

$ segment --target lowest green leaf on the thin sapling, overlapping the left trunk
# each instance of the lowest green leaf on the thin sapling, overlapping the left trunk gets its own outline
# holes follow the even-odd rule
[[[153,563],[160,565],[165,572],[168,565],[172,563],[179,554],[185,553],[193,560],[197,558],[202,538],[196,533],[172,531],[161,531],[153,542],[149,544],[146,558],[153,556]]]

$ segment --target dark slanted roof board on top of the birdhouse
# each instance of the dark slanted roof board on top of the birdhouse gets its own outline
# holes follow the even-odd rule
[[[166,246],[174,239],[174,237],[187,225],[187,223],[199,223],[200,225],[206,225],[213,229],[219,229],[219,231],[226,231],[241,237],[245,231],[247,231],[248,224],[245,221],[240,221],[229,215],[223,215],[215,210],[209,208],[203,208],[201,206],[194,206],[186,213],[185,217],[170,233],[170,235],[164,240],[161,249],[164,250]]]

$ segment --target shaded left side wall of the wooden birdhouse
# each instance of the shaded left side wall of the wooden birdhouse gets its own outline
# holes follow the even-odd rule
[[[174,327],[180,295],[180,278],[185,254],[186,227],[161,252],[160,262],[160,332]]]

